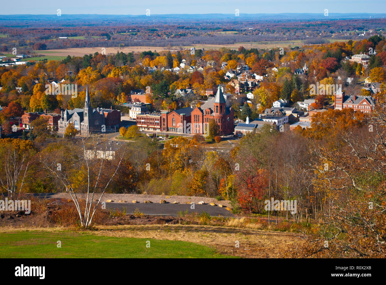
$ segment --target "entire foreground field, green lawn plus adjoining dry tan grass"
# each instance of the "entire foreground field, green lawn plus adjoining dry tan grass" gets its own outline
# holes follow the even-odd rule
[[[98,226],[96,231],[0,227],[0,257],[278,258],[298,234],[198,225]],[[146,241],[150,248],[146,248]],[[61,241],[61,248],[57,248]],[[235,247],[239,241],[239,248]]]

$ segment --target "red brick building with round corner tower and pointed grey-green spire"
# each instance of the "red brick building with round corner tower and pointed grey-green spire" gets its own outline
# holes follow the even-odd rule
[[[232,134],[234,131],[234,110],[232,107],[225,106],[225,98],[222,90],[217,89],[214,100],[208,100],[200,107],[196,107],[191,111],[191,123],[193,134],[203,134],[203,125],[209,123],[210,119],[214,119],[219,126],[220,134]]]

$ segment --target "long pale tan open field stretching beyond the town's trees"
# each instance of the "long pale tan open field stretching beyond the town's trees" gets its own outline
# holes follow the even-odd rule
[[[330,39],[329,41],[345,41],[345,40],[335,40]],[[273,48],[273,47],[288,47],[288,46],[300,46],[303,45],[303,41],[295,40],[295,41],[259,41],[259,42],[237,42],[235,44],[204,44],[204,45],[192,45],[192,46],[183,46],[183,49],[190,49],[191,47],[195,47],[197,49],[219,49],[220,47],[227,47],[230,49],[238,49],[240,46],[244,46],[245,48],[257,48],[257,49],[265,49],[265,48]],[[106,54],[116,54],[119,52],[124,53],[141,53],[142,51],[165,51],[165,50],[179,50],[180,47],[154,47],[154,46],[132,46],[132,47],[106,47]],[[49,49],[46,51],[37,51],[39,54],[44,55],[56,55],[56,56],[84,56],[85,54],[94,54],[96,52],[101,53],[102,47],[79,47],[79,48],[68,48],[68,49]]]

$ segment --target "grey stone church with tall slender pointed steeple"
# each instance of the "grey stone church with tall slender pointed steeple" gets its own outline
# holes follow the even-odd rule
[[[64,133],[66,127],[71,123],[82,136],[87,136],[91,131],[100,132],[102,125],[105,125],[105,115],[99,108],[91,107],[88,86],[86,88],[85,107],[83,109],[75,108],[73,110],[62,111],[61,119],[58,121],[58,132]]]

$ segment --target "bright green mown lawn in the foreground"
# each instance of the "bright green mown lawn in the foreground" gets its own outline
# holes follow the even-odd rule
[[[61,248],[57,247],[61,241]],[[150,241],[150,247],[146,247]],[[232,258],[185,241],[95,236],[83,232],[0,234],[0,258]]]

